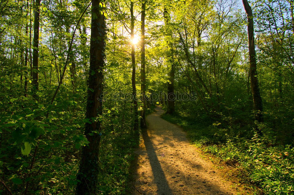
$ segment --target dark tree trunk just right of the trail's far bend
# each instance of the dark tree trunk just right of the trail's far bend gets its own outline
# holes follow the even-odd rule
[[[167,11],[166,8],[164,8],[163,11],[163,17],[164,17],[164,22],[165,22],[165,27],[166,27],[166,35],[168,37],[171,37],[171,29],[169,26],[170,23],[170,14]],[[172,45],[171,45],[171,40],[167,40],[167,45],[168,45],[168,56],[167,56],[167,61],[168,65],[170,66],[170,70],[168,73],[169,76],[169,82],[167,83],[167,109],[166,113],[167,114],[173,114],[175,112],[175,94],[174,94],[174,78],[175,78],[175,69],[174,69],[174,61],[173,61],[173,51],[172,51]]]

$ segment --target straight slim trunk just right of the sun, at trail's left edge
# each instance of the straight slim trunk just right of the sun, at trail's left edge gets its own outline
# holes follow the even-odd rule
[[[146,128],[146,100],[145,100],[145,92],[146,92],[146,75],[145,75],[145,6],[146,1],[142,3],[142,12],[141,12],[141,100],[143,103],[143,109],[141,110],[141,128]]]

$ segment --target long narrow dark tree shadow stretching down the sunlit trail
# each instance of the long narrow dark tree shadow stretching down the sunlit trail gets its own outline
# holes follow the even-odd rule
[[[149,162],[152,168],[154,182],[157,185],[157,194],[173,194],[171,188],[168,185],[166,176],[162,170],[161,164],[155,153],[153,143],[151,142],[151,139],[148,136],[146,129],[142,131],[142,137],[144,140],[144,145],[147,151]]]

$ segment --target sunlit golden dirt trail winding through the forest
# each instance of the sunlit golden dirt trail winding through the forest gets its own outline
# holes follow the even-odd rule
[[[132,194],[237,194],[186,133],[160,117],[161,107],[155,110],[146,117],[148,129],[136,150]]]

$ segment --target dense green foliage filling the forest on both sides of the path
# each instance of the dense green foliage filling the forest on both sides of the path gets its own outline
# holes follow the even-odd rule
[[[85,118],[94,91],[87,80],[96,73],[89,68],[91,18],[97,18],[91,2],[0,3],[1,193],[74,194],[83,182],[76,179],[81,150],[89,144],[84,126],[96,120],[101,131],[89,135],[101,137],[97,194],[125,194],[139,140],[134,121],[141,118],[129,98],[133,65],[141,114],[151,112],[152,93],[167,93],[171,85],[175,93],[196,94],[196,101],[176,100],[175,113],[163,117],[266,193],[294,193],[293,0],[251,2],[263,123],[253,112],[241,1],[93,1],[107,32],[104,69],[98,70],[104,76],[102,114],[96,119]],[[140,97],[142,4],[146,102]]]

